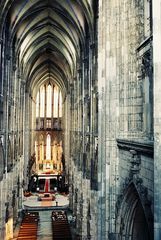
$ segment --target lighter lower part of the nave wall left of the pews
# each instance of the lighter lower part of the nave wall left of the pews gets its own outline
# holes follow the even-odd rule
[[[23,158],[14,166],[13,171],[4,175],[0,182],[0,238],[9,239],[7,231],[16,227],[22,210],[23,201]],[[7,230],[8,225],[8,230]]]

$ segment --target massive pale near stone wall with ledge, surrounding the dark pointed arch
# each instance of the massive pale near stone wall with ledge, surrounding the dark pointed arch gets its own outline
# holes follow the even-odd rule
[[[150,4],[151,1],[99,1],[98,239],[121,238],[116,227],[118,205],[125,207],[120,196],[129,191],[131,182],[139,179],[138,191],[144,192],[152,211]],[[136,191],[133,199],[137,197],[139,199]],[[144,200],[141,199],[142,203]]]

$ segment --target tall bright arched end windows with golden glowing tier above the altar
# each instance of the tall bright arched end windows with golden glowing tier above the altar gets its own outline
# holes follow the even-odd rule
[[[41,85],[36,95],[35,155],[37,172],[62,171],[61,121],[63,116],[61,89],[50,82]],[[54,131],[53,131],[54,130]],[[55,133],[55,131],[57,131]]]

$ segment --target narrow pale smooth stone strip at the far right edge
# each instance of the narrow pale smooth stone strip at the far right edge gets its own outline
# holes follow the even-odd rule
[[[161,0],[153,0],[154,239],[161,239]]]

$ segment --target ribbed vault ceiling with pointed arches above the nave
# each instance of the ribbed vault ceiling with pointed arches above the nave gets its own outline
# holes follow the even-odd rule
[[[9,47],[28,88],[50,79],[66,89],[87,29],[92,38],[92,0],[5,0],[0,7],[1,38],[9,27]]]

